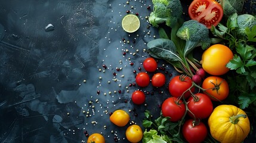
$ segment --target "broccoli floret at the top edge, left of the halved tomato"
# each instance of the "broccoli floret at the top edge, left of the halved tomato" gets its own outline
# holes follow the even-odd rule
[[[149,16],[149,22],[154,27],[158,27],[160,23],[173,27],[183,13],[180,0],[153,0],[152,2],[154,7]]]

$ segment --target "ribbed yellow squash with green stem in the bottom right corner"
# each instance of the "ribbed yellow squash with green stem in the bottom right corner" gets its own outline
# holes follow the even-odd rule
[[[234,105],[219,105],[208,119],[213,138],[221,143],[240,143],[250,131],[249,119],[245,111]]]

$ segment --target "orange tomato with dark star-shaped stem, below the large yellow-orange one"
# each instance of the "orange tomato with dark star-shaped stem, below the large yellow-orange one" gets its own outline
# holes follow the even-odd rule
[[[229,95],[229,85],[227,81],[218,76],[209,76],[203,80],[202,88],[206,89],[213,101],[223,101]]]

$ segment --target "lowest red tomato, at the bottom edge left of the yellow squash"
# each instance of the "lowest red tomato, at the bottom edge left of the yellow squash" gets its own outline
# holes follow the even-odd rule
[[[203,122],[186,120],[183,125],[182,133],[187,142],[198,143],[205,140],[208,130]]]

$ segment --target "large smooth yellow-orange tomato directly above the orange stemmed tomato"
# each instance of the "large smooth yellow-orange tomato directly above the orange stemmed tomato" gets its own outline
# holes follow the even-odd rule
[[[227,73],[229,68],[226,64],[233,58],[233,52],[229,47],[221,44],[215,44],[206,49],[202,54],[201,64],[203,70],[214,76],[220,76]]]

